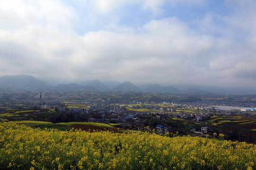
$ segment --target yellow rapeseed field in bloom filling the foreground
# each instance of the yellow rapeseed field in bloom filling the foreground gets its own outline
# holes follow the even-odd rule
[[[255,170],[256,145],[0,123],[1,170]]]

